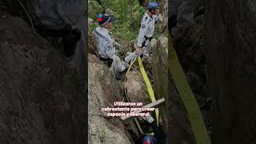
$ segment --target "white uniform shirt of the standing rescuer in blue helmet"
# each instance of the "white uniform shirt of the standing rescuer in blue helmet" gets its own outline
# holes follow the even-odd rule
[[[148,11],[146,11],[146,13],[142,18],[142,22],[141,22],[142,24],[138,34],[137,45],[140,47],[142,47],[142,42],[144,42],[146,39],[144,36],[146,36],[147,38],[153,37],[154,22],[157,22],[159,19],[162,18],[161,14],[153,15],[153,18],[151,18],[147,13]]]

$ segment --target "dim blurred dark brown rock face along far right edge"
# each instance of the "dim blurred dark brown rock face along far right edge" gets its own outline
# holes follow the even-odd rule
[[[212,143],[256,143],[256,1],[206,1]]]

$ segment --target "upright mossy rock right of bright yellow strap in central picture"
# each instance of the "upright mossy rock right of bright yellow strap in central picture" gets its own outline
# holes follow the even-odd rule
[[[160,115],[162,116],[163,125],[166,133],[170,132],[170,110],[168,94],[168,39],[162,36],[156,42],[151,42],[152,46],[152,73],[154,77],[154,94],[156,99],[165,98],[164,106],[160,107]],[[165,46],[162,46],[165,45]],[[170,134],[170,133],[169,133]],[[168,140],[168,138],[167,138]]]

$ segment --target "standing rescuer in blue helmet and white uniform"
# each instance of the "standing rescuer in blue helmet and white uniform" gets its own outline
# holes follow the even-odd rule
[[[149,2],[147,4],[147,11],[144,14],[141,22],[141,28],[138,34],[138,42],[134,53],[127,53],[125,61],[130,62],[136,54],[143,54],[143,58],[149,57],[150,54],[150,41],[154,35],[154,23],[162,20],[162,15],[159,14],[160,5],[158,2]]]

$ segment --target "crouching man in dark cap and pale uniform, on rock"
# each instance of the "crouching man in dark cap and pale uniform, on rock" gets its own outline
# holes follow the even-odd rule
[[[117,72],[126,70],[126,65],[115,55],[114,38],[110,34],[114,20],[113,15],[98,14],[99,26],[94,30],[93,34],[97,45],[96,53],[103,62],[107,63],[112,74],[116,76]]]

